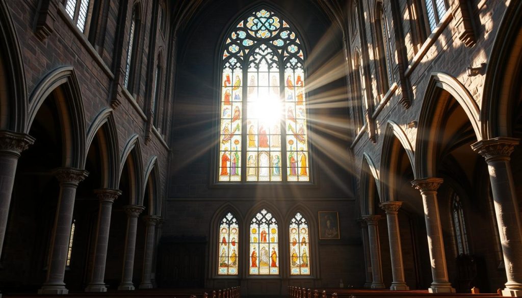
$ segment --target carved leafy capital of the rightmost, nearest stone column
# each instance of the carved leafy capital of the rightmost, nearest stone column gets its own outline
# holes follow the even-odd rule
[[[509,160],[509,156],[515,150],[520,139],[498,137],[489,140],[481,140],[471,144],[471,149],[479,153],[486,159],[486,162],[492,160]]]

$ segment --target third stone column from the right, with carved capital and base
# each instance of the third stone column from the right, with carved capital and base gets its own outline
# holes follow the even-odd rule
[[[390,242],[390,256],[392,259],[392,275],[393,282],[390,290],[392,291],[408,291],[410,288],[406,285],[404,277],[404,264],[402,263],[402,247],[400,245],[399,219],[397,213],[402,202],[389,201],[381,203],[381,208],[386,211],[386,220],[388,223],[388,239]]]

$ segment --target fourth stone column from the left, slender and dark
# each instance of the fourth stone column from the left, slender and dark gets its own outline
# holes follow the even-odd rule
[[[134,270],[134,252],[136,251],[136,232],[138,229],[138,216],[145,207],[128,205],[123,208],[127,213],[127,234],[125,235],[125,251],[123,252],[122,282],[118,287],[120,291],[134,290],[132,282]]]

